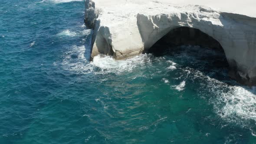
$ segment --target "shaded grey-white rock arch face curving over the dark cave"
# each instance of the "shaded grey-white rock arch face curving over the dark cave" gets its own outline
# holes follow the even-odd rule
[[[168,35],[173,29],[180,27],[198,29],[215,39],[219,47],[223,48],[231,78],[245,85],[256,85],[256,51],[253,50],[256,46],[253,46],[253,43],[256,44],[256,32],[249,32],[251,26],[236,23],[231,20],[232,17],[228,17],[230,15],[198,8],[200,13],[184,12],[154,16],[138,14],[137,25],[144,43],[144,52],[148,52],[159,39]],[[209,13],[214,14],[207,15]],[[246,35],[253,38],[247,39]]]

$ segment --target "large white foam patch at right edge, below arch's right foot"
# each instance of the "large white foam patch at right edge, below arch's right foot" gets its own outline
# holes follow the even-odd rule
[[[206,85],[201,83],[201,87],[207,90],[207,93],[215,95],[210,98],[210,102],[217,115],[227,122],[250,128],[249,121],[256,121],[256,91],[254,88],[228,85],[200,71],[190,70],[194,79],[207,81]],[[202,94],[205,96],[205,93]]]

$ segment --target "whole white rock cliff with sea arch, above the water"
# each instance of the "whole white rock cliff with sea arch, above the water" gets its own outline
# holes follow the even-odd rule
[[[100,53],[115,59],[138,55],[185,26],[216,39],[231,76],[255,85],[255,6],[255,0],[85,0],[85,24],[94,29],[91,58]]]

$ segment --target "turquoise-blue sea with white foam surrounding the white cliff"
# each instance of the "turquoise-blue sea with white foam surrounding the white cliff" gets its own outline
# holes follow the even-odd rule
[[[222,53],[89,62],[84,2],[1,0],[0,144],[256,144],[256,89]]]

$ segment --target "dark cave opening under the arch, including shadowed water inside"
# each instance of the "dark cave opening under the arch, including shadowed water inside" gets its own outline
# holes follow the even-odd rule
[[[207,64],[205,64],[203,66],[204,68],[201,70],[207,73],[207,75],[210,75],[210,73],[216,71],[216,69],[224,70],[224,75],[227,75],[229,71],[225,52],[220,43],[199,29],[189,27],[178,27],[172,29],[169,33],[159,39],[150,49],[148,49],[148,52],[157,57],[172,56],[176,59],[177,55],[180,55],[181,52],[187,52],[187,57],[182,57],[182,59],[187,59],[185,62],[186,64],[184,65],[193,65],[193,69],[200,69],[199,67],[201,63],[206,62]],[[189,60],[191,59],[190,56],[199,60]],[[199,63],[194,65],[194,63],[197,62]],[[223,80],[222,77],[224,76],[219,75],[217,77],[215,78]],[[226,77],[225,79],[229,78]]]

